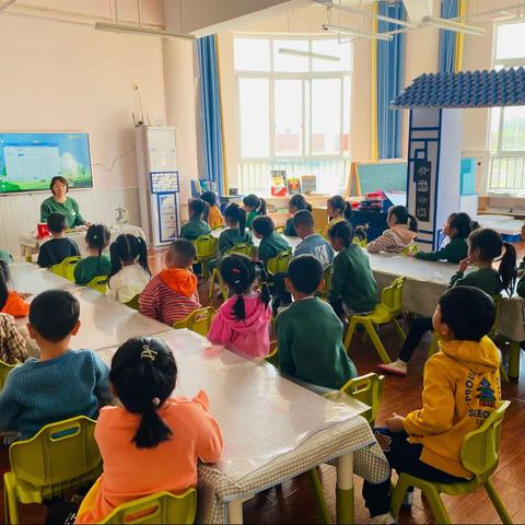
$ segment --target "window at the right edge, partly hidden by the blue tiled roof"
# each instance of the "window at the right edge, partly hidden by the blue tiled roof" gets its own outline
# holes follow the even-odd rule
[[[525,66],[525,23],[497,26],[494,69]],[[490,114],[489,191],[525,192],[525,107],[494,107]]]

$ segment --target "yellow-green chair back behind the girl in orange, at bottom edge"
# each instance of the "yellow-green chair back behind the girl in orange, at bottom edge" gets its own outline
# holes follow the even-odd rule
[[[197,491],[188,489],[182,494],[158,492],[117,506],[101,523],[136,524],[163,523],[192,524],[197,513]]]

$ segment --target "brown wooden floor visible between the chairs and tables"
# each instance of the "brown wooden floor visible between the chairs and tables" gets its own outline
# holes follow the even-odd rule
[[[518,246],[520,253],[525,253],[525,246]],[[154,272],[162,267],[162,253],[154,253],[150,258]],[[208,304],[207,283],[199,284],[201,301]],[[218,305],[214,299],[211,304]],[[399,349],[399,340],[390,328],[386,327],[381,332],[382,340],[392,357]],[[429,339],[423,339],[419,351],[410,363],[410,374],[405,377],[387,376],[386,388],[383,397],[381,415],[377,424],[382,424],[393,411],[405,415],[420,406],[422,387],[423,355],[425,355]],[[370,341],[363,343],[360,337],[352,341],[350,355],[357,364],[360,374],[375,372],[377,355]],[[506,358],[506,355],[505,355]],[[495,488],[500,492],[514,523],[525,523],[525,505],[523,504],[523,487],[525,479],[525,362],[522,359],[521,382],[503,384],[503,397],[512,401],[504,423],[501,443],[500,464],[493,476]],[[9,469],[7,450],[0,453],[0,471]],[[332,517],[335,517],[335,469],[323,467],[323,483],[326,500]],[[355,478],[355,518],[357,523],[366,523],[369,514],[361,498],[361,482]],[[500,523],[498,514],[492,508],[488,495],[483,491],[463,497],[443,497],[453,523]],[[0,499],[0,506],[3,501]],[[38,505],[22,506],[22,524],[40,524],[45,511]],[[3,509],[0,509],[3,517]],[[299,477],[279,489],[271,489],[260,493],[244,504],[245,523],[319,523],[312,490],[305,477]],[[1,518],[0,518],[1,520]],[[3,523],[3,522],[0,522]],[[419,491],[416,493],[415,503],[409,511],[404,510],[399,523],[434,523],[432,514]]]

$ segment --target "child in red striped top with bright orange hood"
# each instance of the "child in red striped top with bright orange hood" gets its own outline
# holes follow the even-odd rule
[[[200,308],[197,277],[191,264],[197,252],[186,238],[172,242],[166,254],[166,269],[153,277],[140,294],[140,313],[173,326]]]

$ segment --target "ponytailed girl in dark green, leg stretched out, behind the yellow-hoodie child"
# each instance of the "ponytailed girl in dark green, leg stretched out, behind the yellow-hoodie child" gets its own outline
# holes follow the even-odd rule
[[[497,270],[492,268],[494,259],[504,250]],[[468,265],[476,265],[477,269],[465,275]],[[459,262],[459,268],[452,277],[448,288],[471,285],[479,288],[491,296],[499,295],[504,290],[509,296],[514,292],[516,281],[516,250],[512,244],[504,243],[501,235],[493,230],[475,230],[469,237],[468,258]],[[418,348],[423,335],[432,329],[431,317],[417,318],[408,332],[396,361],[389,364],[380,364],[384,372],[397,375],[407,375],[408,362]]]

